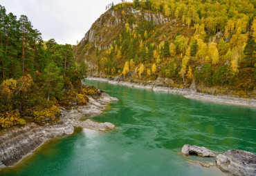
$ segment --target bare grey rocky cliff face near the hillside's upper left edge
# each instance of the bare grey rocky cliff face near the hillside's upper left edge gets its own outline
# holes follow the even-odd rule
[[[126,8],[125,15],[134,17],[136,21],[132,24],[136,28],[138,21],[145,19],[146,21],[153,21],[154,25],[167,23],[169,19],[165,18],[161,13],[142,12],[134,8]],[[86,32],[84,38],[80,41],[82,46],[90,42],[99,50],[107,50],[111,43],[119,34],[121,28],[127,23],[127,19],[123,18],[122,10],[107,10],[98,18],[90,30]]]

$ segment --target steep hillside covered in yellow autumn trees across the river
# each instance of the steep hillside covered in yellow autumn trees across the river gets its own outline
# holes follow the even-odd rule
[[[134,1],[102,14],[74,47],[89,75],[255,97],[254,1]]]

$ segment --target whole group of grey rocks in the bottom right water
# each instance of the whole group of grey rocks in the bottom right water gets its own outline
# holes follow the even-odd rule
[[[183,155],[196,153],[201,157],[216,157],[216,164],[210,162],[193,161],[204,167],[217,166],[225,173],[232,175],[256,175],[256,155],[245,150],[228,150],[219,155],[205,147],[184,145],[181,149]],[[191,162],[191,161],[190,161]]]

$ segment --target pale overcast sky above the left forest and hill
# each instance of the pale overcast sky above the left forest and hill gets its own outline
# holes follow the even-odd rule
[[[25,14],[44,41],[76,44],[106,10],[107,4],[121,0],[0,0],[7,12],[19,19]]]

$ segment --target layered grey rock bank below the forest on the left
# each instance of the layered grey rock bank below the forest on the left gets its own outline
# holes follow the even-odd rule
[[[79,106],[71,110],[60,108],[62,115],[60,121],[55,124],[39,126],[31,123],[22,128],[6,130],[0,136],[0,169],[17,164],[49,139],[71,135],[74,128],[88,128],[99,131],[115,128],[113,124],[108,122],[98,123],[89,119],[86,121],[79,120],[84,116],[99,115],[111,101],[118,101],[118,99],[102,92],[99,99],[89,97],[89,104],[86,106]]]

